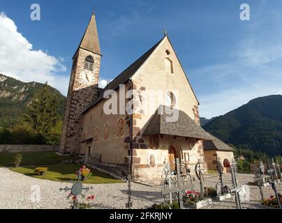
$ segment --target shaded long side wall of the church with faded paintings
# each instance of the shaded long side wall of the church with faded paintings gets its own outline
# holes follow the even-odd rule
[[[128,86],[126,86],[126,90]],[[119,100],[119,91],[117,91]],[[84,114],[82,118],[82,141],[92,139],[89,143],[81,144],[80,153],[89,157],[99,157],[99,164],[128,165],[128,150],[130,142],[129,116],[120,114],[105,114],[104,103],[99,102],[95,107]],[[89,160],[90,161],[90,160]],[[93,160],[91,161],[93,163]]]

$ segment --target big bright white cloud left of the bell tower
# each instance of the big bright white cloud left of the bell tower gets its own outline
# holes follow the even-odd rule
[[[66,95],[69,77],[58,74],[66,71],[64,59],[34,50],[5,13],[0,13],[0,33],[0,73],[23,82],[47,81]]]

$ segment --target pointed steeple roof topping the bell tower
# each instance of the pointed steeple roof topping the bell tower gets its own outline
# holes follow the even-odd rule
[[[90,22],[78,48],[86,49],[90,52],[101,55],[95,13],[91,15]]]

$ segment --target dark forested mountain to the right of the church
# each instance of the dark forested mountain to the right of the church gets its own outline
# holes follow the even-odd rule
[[[282,154],[282,95],[255,98],[203,127],[219,139],[269,155]]]

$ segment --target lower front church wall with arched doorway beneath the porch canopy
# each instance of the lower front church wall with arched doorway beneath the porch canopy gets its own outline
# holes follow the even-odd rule
[[[149,138],[142,138],[145,144],[149,144]],[[136,182],[159,185],[162,182],[165,164],[175,169],[176,158],[179,158],[181,167],[188,167],[192,173],[198,160],[202,167],[207,168],[202,141],[199,139],[163,134],[158,137],[154,135],[154,140],[151,141],[154,141],[154,144],[150,144],[154,146],[153,148],[133,149],[133,177]]]

